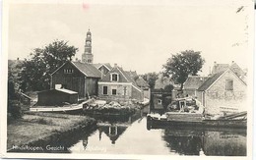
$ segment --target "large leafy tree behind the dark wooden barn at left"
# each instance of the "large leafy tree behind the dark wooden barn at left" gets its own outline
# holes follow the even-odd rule
[[[54,40],[43,48],[35,48],[32,59],[23,63],[20,74],[21,89],[43,90],[50,86],[50,74],[66,61],[71,61],[78,48],[69,46],[68,41]]]

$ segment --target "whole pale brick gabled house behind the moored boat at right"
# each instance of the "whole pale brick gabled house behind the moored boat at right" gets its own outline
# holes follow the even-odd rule
[[[237,112],[246,108],[246,83],[231,68],[212,75],[196,91],[208,114]]]

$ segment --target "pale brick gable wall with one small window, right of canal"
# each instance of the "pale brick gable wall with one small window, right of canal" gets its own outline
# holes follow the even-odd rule
[[[225,90],[225,80],[233,80],[233,90]],[[246,110],[246,85],[231,71],[225,72],[223,77],[205,92],[205,106],[205,111],[209,114]]]

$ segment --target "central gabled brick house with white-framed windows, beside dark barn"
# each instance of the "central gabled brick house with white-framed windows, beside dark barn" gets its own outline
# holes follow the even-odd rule
[[[143,100],[143,91],[136,82],[116,64],[101,80],[98,81],[100,99],[127,101]]]

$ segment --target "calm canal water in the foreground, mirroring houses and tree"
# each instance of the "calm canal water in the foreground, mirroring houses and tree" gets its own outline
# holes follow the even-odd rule
[[[129,117],[96,118],[97,129],[74,141],[71,153],[246,156],[246,130],[147,128],[147,108]]]

